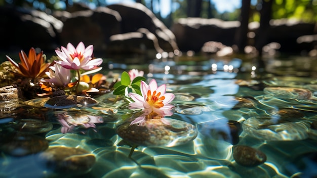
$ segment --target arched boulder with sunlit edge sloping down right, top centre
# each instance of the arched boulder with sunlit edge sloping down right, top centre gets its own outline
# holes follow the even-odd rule
[[[121,33],[135,32],[145,28],[155,35],[160,48],[164,51],[178,49],[173,32],[142,4],[114,4],[107,7],[117,11],[122,17]]]

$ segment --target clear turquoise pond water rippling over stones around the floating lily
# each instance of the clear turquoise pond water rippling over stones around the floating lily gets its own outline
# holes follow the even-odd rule
[[[111,93],[68,109],[0,103],[0,177],[317,176],[316,59],[115,61],[105,74],[167,84],[174,114],[130,126],[139,112]]]

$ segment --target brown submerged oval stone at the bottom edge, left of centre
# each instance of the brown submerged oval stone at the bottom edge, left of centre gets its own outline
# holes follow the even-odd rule
[[[48,168],[72,174],[86,173],[96,162],[95,155],[86,150],[60,146],[50,147],[39,157]]]

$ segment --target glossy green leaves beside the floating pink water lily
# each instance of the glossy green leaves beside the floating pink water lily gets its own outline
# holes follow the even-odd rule
[[[123,95],[126,93],[126,90],[128,93],[133,92],[141,95],[141,81],[145,81],[144,77],[136,77],[131,82],[130,76],[127,72],[123,72],[121,75],[121,81],[114,84],[114,95]]]

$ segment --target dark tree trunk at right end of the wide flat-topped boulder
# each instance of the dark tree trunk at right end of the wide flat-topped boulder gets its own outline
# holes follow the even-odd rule
[[[242,0],[241,13],[239,17],[240,26],[237,28],[234,38],[235,44],[237,46],[237,52],[239,53],[244,53],[244,49],[247,45],[250,5],[251,0]]]

